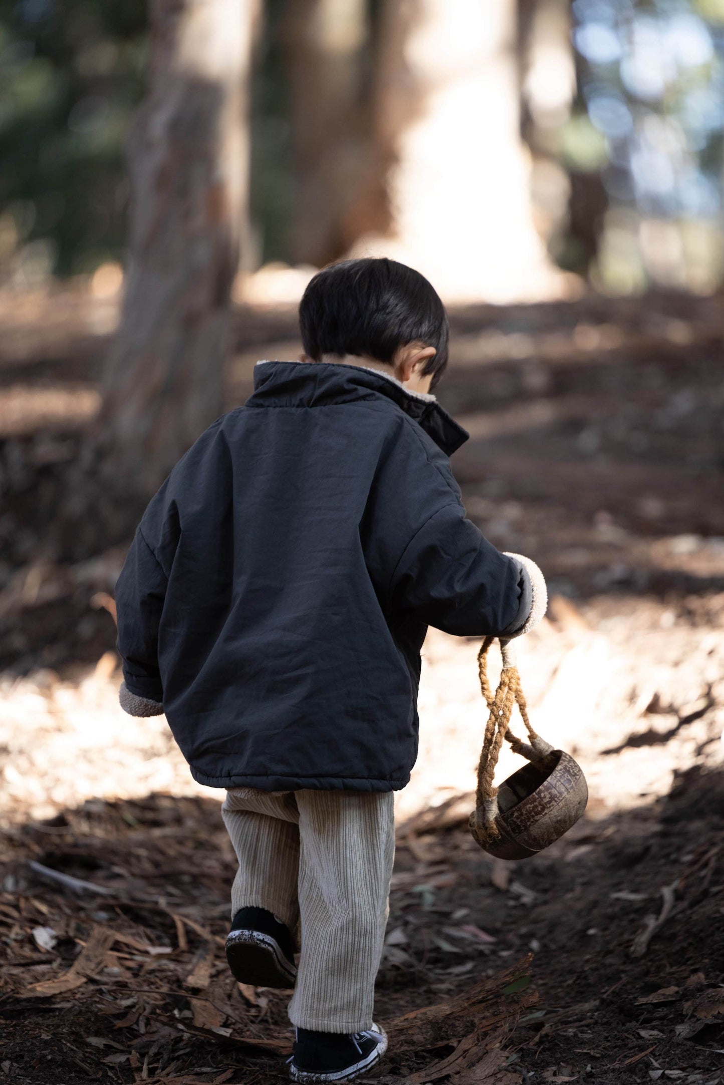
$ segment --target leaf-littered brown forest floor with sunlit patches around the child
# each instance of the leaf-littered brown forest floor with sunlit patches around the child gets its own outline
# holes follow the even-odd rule
[[[454,470],[487,536],[548,577],[521,674],[590,802],[534,859],[477,848],[478,646],[433,631],[378,1081],[724,1081],[721,311],[454,315],[440,398],[471,433]],[[77,292],[0,297],[0,1081],[281,1082],[285,996],[240,988],[223,958],[218,795],[162,718],[116,703],[112,591],[138,510],[99,497],[89,515],[86,441],[114,314]],[[299,349],[287,310],[240,312],[236,340],[230,406],[257,357]]]

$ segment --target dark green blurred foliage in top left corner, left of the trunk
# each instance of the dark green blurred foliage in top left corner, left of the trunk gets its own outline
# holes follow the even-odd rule
[[[0,0],[0,261],[21,281],[119,258],[145,0]]]

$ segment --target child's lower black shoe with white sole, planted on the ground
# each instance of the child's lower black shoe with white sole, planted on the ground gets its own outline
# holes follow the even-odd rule
[[[351,1082],[366,1074],[388,1049],[388,1035],[373,1024],[351,1036],[297,1029],[289,1076],[293,1082]]]

